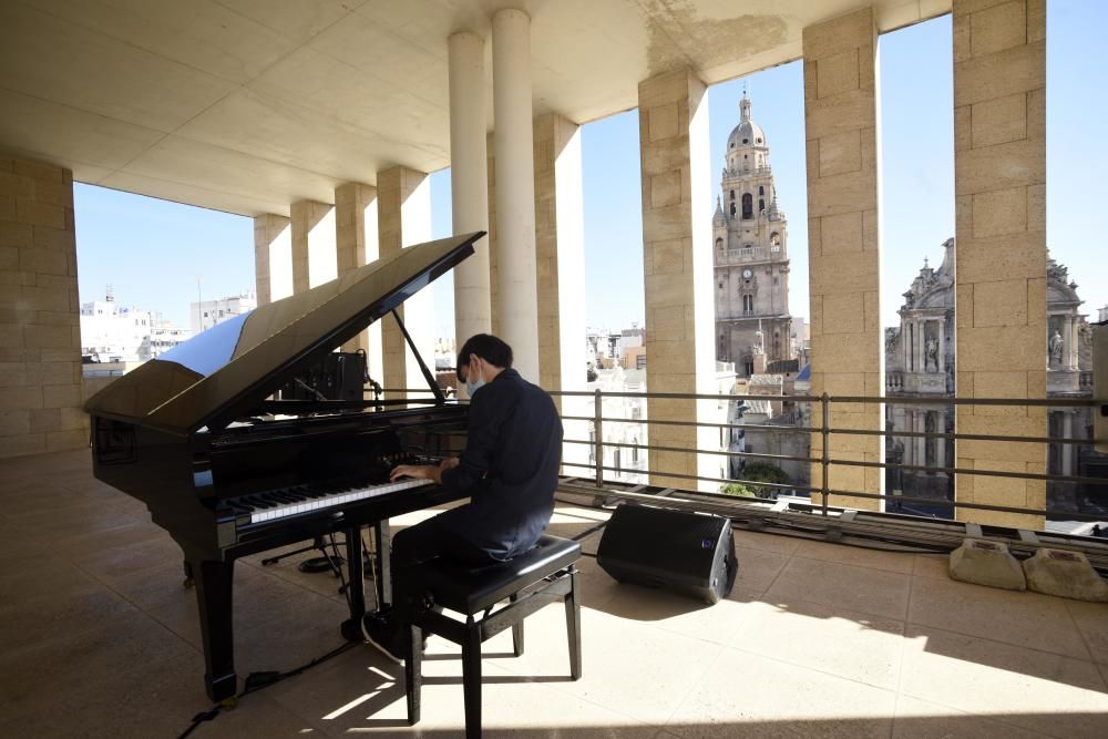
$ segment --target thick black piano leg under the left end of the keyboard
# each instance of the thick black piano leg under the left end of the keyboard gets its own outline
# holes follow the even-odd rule
[[[238,692],[232,630],[235,562],[189,561],[188,567],[196,587],[204,638],[204,687],[208,698],[219,702]]]

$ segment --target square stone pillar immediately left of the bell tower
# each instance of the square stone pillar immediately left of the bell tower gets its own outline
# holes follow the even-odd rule
[[[647,388],[650,392],[716,393],[712,341],[711,174],[708,99],[690,71],[638,85],[643,173],[643,261]],[[716,401],[652,400],[649,418],[711,421]],[[654,425],[650,444],[719,449],[711,428]],[[718,456],[652,451],[652,484],[715,491],[681,475],[718,476]]]

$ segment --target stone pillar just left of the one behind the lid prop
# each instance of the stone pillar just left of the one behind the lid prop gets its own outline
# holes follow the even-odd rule
[[[339,275],[377,260],[377,188],[348,182],[335,189],[335,261]],[[342,351],[365,349],[369,376],[381,381],[381,322],[342,345]]]

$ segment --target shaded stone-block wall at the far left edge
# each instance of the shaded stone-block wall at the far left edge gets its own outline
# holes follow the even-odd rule
[[[73,173],[0,156],[0,459],[89,444]]]

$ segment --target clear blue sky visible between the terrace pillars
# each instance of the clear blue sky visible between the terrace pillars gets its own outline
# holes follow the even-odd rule
[[[1108,3],[1051,0],[1047,4],[1047,244],[1070,268],[1094,318],[1108,302],[1098,175],[1108,170],[1100,129],[1108,51]],[[954,234],[952,70],[948,17],[881,37],[882,320],[896,322],[901,294],[924,256],[937,264]],[[808,235],[804,191],[803,80],[786,64],[709,90],[711,187],[719,187],[727,135],[738,122],[743,83],[753,117],[766,131],[779,203],[789,218],[793,315],[808,316]],[[1097,89],[1091,90],[1090,84]],[[635,111],[582,130],[585,197],[585,301],[592,326],[643,320],[638,116]],[[435,237],[449,234],[449,171],[431,176]],[[82,300],[103,296],[187,326],[197,277],[206,298],[254,284],[248,218],[78,185],[78,258]],[[706,218],[711,213],[705,214]],[[452,330],[452,281],[433,286],[440,333]]]

